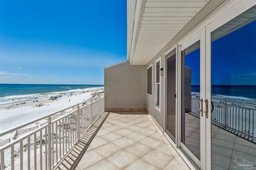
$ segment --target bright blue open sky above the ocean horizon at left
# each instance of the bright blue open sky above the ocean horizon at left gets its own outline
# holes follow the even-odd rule
[[[126,1],[0,0],[0,83],[103,84],[126,32]]]

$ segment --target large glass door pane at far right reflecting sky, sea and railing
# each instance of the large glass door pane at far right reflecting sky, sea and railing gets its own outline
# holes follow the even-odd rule
[[[212,169],[256,168],[255,11],[211,33]]]

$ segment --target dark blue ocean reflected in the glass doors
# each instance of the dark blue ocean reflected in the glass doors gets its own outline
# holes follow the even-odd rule
[[[256,104],[256,85],[212,85],[212,97],[244,101]],[[193,94],[199,94],[200,86],[192,85]]]

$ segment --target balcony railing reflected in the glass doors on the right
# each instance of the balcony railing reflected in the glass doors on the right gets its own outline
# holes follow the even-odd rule
[[[191,96],[191,112],[200,117],[198,108],[199,97]],[[212,98],[211,115],[213,123],[220,123],[235,131],[256,139],[256,104],[244,101]]]

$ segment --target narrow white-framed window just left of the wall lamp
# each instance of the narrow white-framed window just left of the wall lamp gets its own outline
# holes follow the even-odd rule
[[[160,108],[160,65],[161,58],[156,60],[156,86],[155,86],[155,105],[157,108]]]

